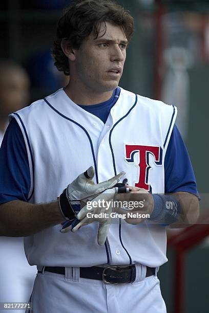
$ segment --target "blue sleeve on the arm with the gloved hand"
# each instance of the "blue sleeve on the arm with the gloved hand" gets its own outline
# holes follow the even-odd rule
[[[0,149],[0,204],[28,200],[30,168],[22,131],[12,119]]]

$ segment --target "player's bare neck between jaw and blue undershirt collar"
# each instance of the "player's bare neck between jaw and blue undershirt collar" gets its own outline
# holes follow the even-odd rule
[[[80,87],[73,78],[70,78],[70,82],[65,87],[65,92],[74,103],[80,105],[92,105],[105,102],[109,100],[113,94],[112,90],[99,93],[90,90],[87,86]]]

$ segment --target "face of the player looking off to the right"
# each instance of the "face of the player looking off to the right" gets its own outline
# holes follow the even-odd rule
[[[98,38],[94,39],[91,34],[75,51],[77,82],[95,93],[112,91],[117,87],[126,60],[128,40],[122,27],[108,22],[106,25],[105,35],[103,23]]]

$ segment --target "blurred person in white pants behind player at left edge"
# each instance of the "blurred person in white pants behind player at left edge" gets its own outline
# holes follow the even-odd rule
[[[22,66],[12,60],[0,60],[0,145],[8,125],[8,115],[29,103],[29,88],[30,80]],[[23,237],[1,236],[0,251],[0,302],[28,302],[36,267],[27,262]]]

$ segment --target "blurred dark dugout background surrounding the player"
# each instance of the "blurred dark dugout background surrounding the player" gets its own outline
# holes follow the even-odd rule
[[[135,18],[120,86],[177,106],[177,126],[189,150],[205,214],[209,207],[209,0],[116,2]],[[0,58],[14,60],[27,71],[30,102],[67,84],[53,65],[50,48],[57,20],[69,3],[9,0],[0,4]],[[169,262],[161,267],[159,277],[169,313],[209,312],[209,218],[204,214],[201,225],[168,233]]]

